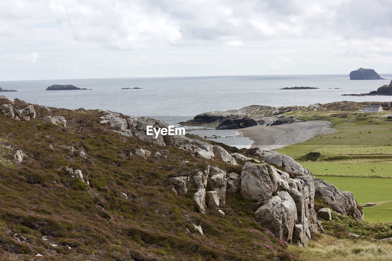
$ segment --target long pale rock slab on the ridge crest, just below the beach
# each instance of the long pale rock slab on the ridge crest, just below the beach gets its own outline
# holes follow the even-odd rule
[[[259,156],[263,161],[274,163],[282,166],[285,170],[294,172],[299,175],[309,175],[310,170],[299,165],[294,159],[285,154],[269,150],[257,150],[256,156]]]

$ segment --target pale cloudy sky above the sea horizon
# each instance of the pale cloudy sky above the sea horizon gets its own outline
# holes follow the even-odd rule
[[[0,0],[0,81],[392,74],[390,0]]]

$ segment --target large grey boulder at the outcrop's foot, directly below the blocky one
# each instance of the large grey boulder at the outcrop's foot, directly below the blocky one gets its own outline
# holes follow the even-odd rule
[[[292,242],[297,210],[289,193],[279,191],[278,196],[263,202],[255,216],[260,225],[268,228],[275,237]]]

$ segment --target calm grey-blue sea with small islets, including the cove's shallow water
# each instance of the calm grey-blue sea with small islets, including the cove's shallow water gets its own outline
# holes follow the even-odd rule
[[[333,101],[392,101],[390,96],[341,96],[367,93],[388,80],[349,80],[348,75],[254,75],[160,78],[103,78],[0,81],[0,87],[18,92],[5,96],[48,107],[101,109],[132,116],[148,116],[176,124],[209,111],[240,109],[247,105],[273,107]],[[53,84],[72,84],[92,90],[45,91]],[[317,87],[279,90],[284,87]],[[142,89],[122,89],[122,88]],[[189,133],[236,147],[250,147],[249,138],[232,130],[192,128]]]

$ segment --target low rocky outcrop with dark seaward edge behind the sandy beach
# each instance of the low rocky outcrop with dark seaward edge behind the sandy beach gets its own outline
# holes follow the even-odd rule
[[[298,117],[281,115],[284,112],[297,111],[303,107],[270,107],[250,105],[239,110],[204,112],[192,120],[180,122],[187,126],[201,126],[215,129],[241,129],[256,125],[270,126],[302,121]]]

